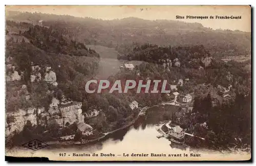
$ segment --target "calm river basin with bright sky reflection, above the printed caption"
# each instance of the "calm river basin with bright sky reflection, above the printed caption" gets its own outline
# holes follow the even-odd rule
[[[169,120],[172,113],[178,108],[173,105],[155,106],[147,110],[146,116],[141,116],[130,127],[109,134],[99,141],[85,145],[51,145],[47,149],[69,151],[83,151],[88,153],[111,153],[111,151],[138,153],[185,150],[185,147],[172,144],[165,138],[157,138],[160,135],[155,125],[158,122]],[[175,150],[174,150],[175,149]]]

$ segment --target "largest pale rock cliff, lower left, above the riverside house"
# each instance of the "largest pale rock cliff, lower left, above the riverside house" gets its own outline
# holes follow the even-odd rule
[[[69,105],[60,105],[45,110],[42,108],[19,109],[16,112],[6,113],[6,137],[11,137],[15,133],[23,131],[24,126],[31,122],[32,126],[45,126],[61,128],[73,123],[84,122],[80,102],[73,102]]]

